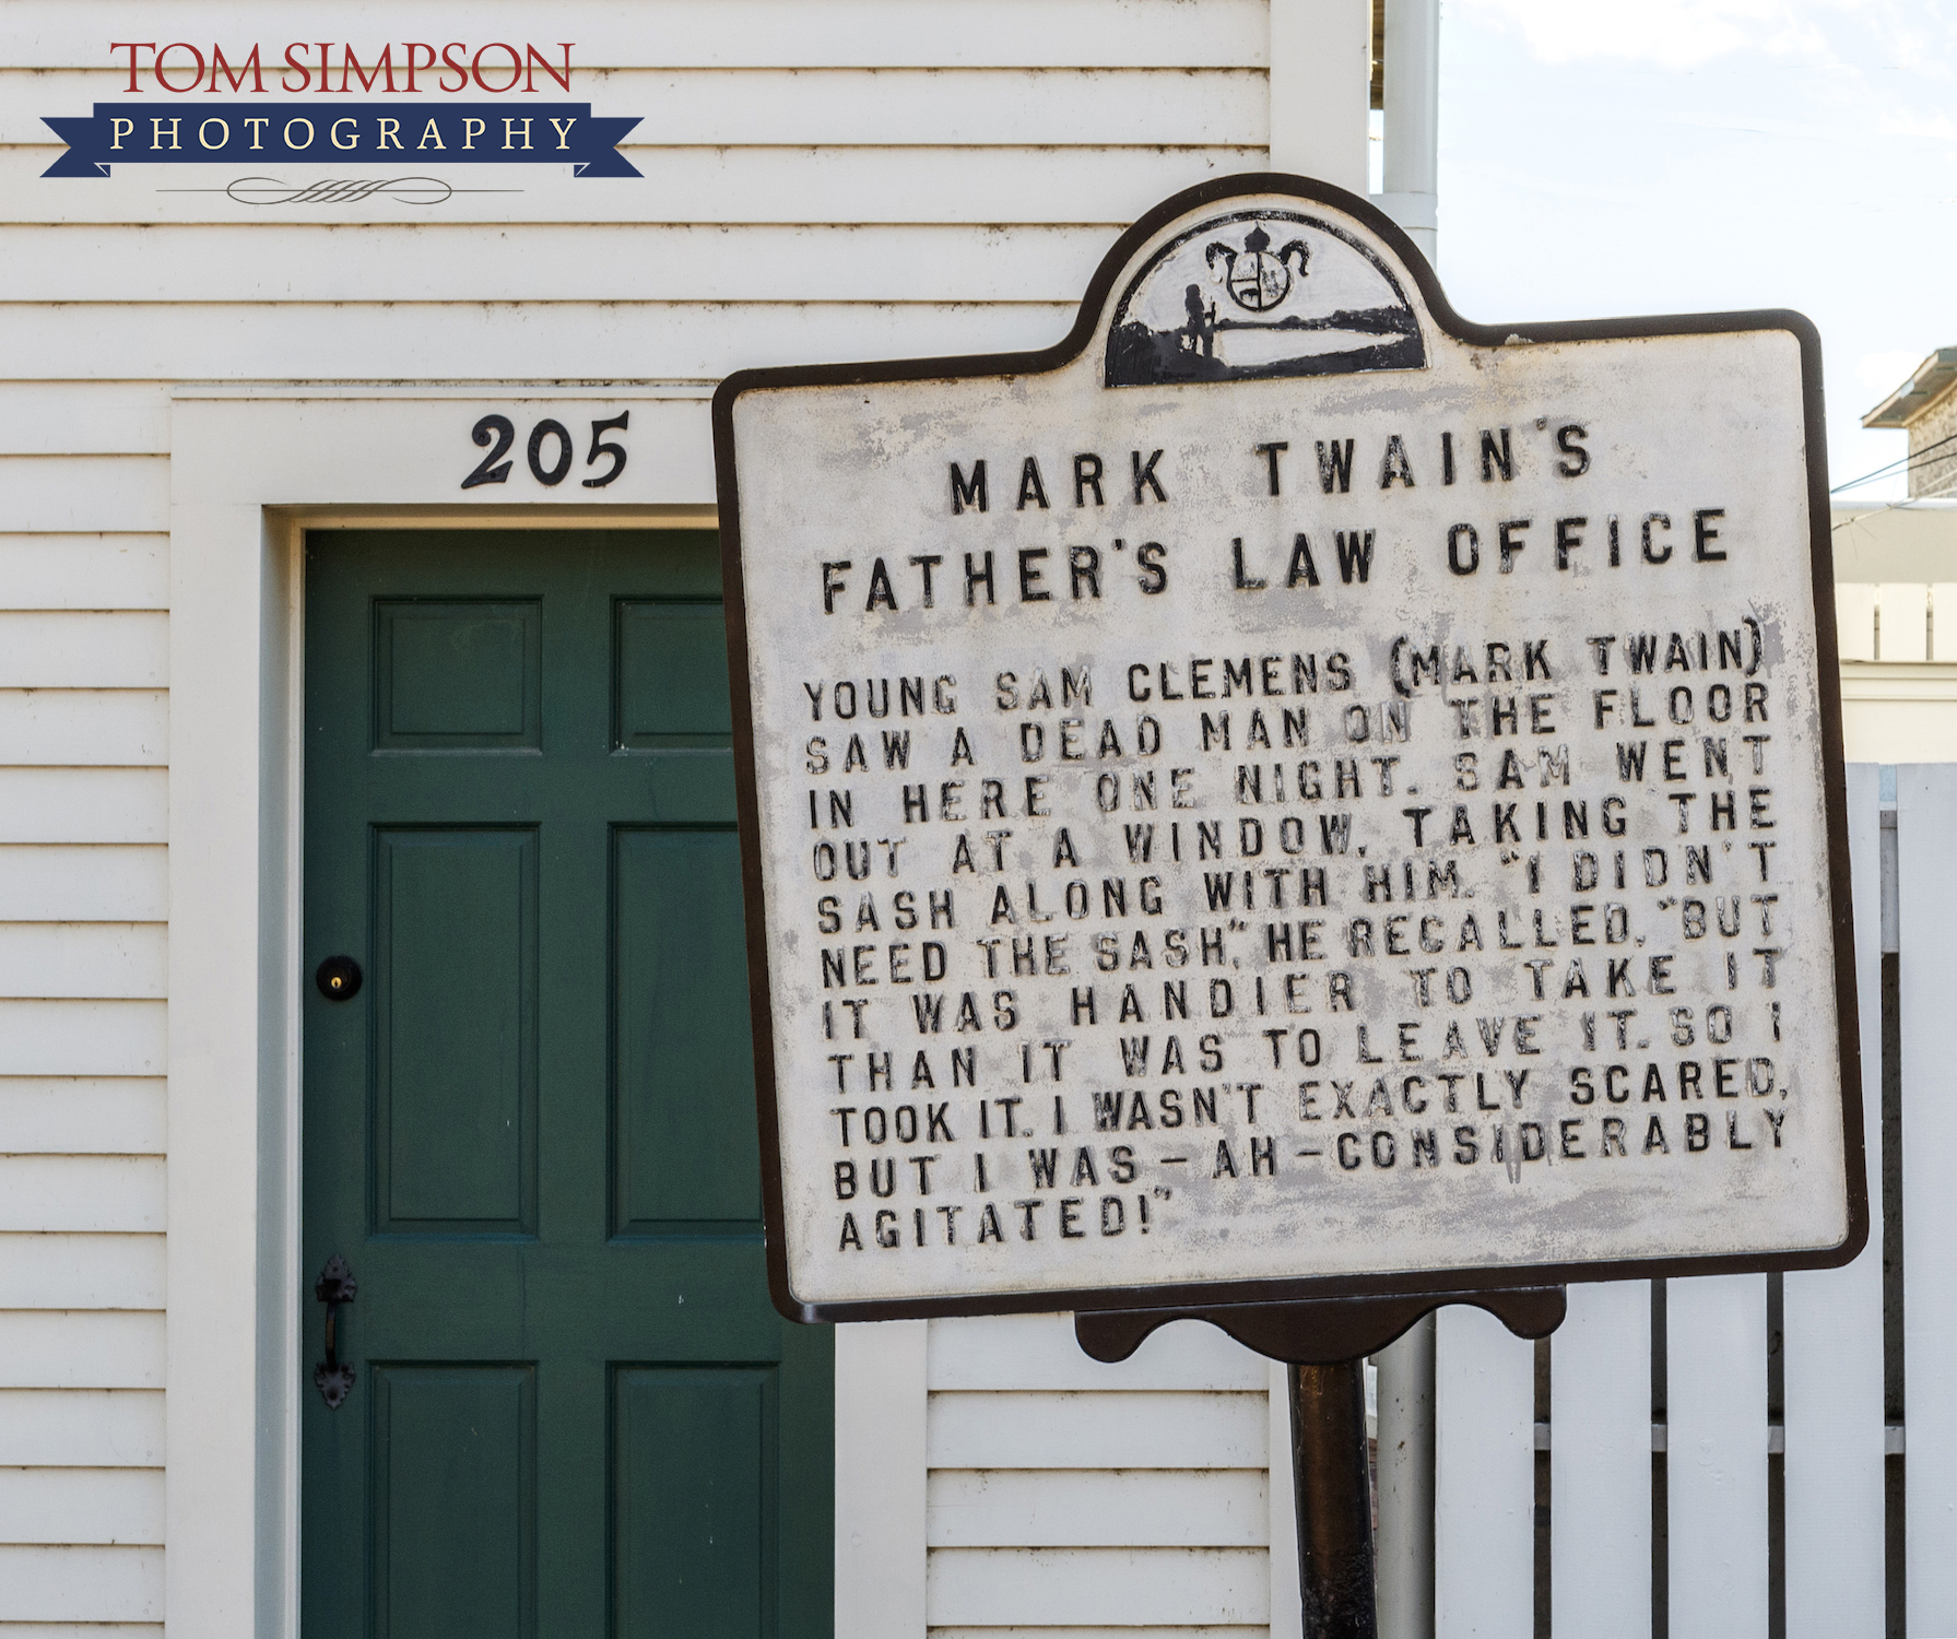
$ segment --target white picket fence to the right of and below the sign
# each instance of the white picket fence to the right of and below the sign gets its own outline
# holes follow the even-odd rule
[[[1883,773],[1847,771],[1867,1252],[1775,1283],[1669,1281],[1660,1303],[1644,1281],[1571,1287],[1546,1406],[1534,1344],[1478,1310],[1444,1310],[1440,1639],[1957,1635],[1957,765],[1896,769],[1892,800]],[[1885,952],[1896,958],[1887,1066]],[[1906,1242],[1889,1246],[1904,1254],[1900,1281],[1889,1277],[1890,1307],[1900,1299],[1889,1377],[1885,1070],[1892,1087],[1900,1078],[1902,1132],[1887,1240]]]

